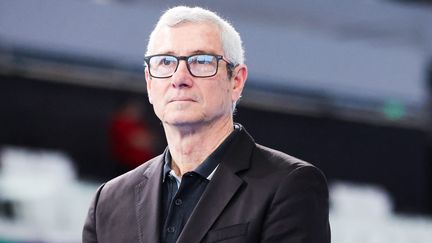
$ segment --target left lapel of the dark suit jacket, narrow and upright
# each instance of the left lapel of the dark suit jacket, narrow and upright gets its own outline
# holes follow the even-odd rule
[[[149,163],[149,162],[147,162]],[[141,243],[159,243],[160,192],[163,155],[144,172],[144,179],[135,186],[136,215]]]

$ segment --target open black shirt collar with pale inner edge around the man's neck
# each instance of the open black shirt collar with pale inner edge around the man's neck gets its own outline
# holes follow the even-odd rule
[[[213,151],[213,153],[211,153],[193,172],[200,175],[203,178],[206,178],[207,180],[211,180],[214,173],[216,172],[216,169],[219,166],[219,163],[222,161],[222,158],[225,155],[226,150],[231,144],[231,141],[234,140],[234,138],[237,136],[240,130],[241,130],[241,126],[235,124],[234,131],[231,132],[231,134],[227,138],[225,138],[225,140],[216,148],[216,150]],[[172,159],[171,159],[171,154],[169,152],[169,149],[165,151],[164,161],[165,164],[163,168],[162,182],[165,181],[165,178],[168,176],[168,174],[172,173],[173,175],[175,175],[174,171],[171,171]],[[179,183],[181,178],[178,177],[175,178],[177,180],[177,183]]]

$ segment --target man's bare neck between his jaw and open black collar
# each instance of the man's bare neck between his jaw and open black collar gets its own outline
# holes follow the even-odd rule
[[[164,124],[171,167],[178,176],[198,167],[234,130],[232,119],[199,126]]]

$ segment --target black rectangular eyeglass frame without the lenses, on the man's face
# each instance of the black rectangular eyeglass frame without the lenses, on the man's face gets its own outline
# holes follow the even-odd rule
[[[216,62],[216,70],[215,70],[215,73],[214,73],[214,74],[212,74],[212,75],[207,75],[207,76],[197,76],[197,75],[194,75],[194,74],[192,73],[192,71],[190,70],[189,62],[188,62],[187,60],[188,60],[189,58],[193,57],[193,56],[200,56],[200,55],[213,56],[213,57],[216,58],[217,62]],[[163,77],[158,77],[158,76],[154,76],[154,75],[151,73],[150,59],[151,59],[152,57],[157,57],[157,56],[169,56],[169,57],[174,57],[174,58],[177,60],[177,66],[176,66],[176,68],[174,69],[174,72],[173,72],[171,75],[169,75],[169,76],[163,76]],[[153,78],[170,78],[170,77],[172,77],[172,76],[174,75],[174,73],[177,72],[177,69],[178,69],[178,66],[179,66],[181,60],[184,60],[184,61],[186,62],[186,68],[187,68],[187,70],[189,71],[190,75],[192,75],[192,77],[195,77],[195,78],[209,78],[209,77],[213,77],[213,76],[215,76],[215,75],[217,74],[218,70],[219,70],[219,61],[220,61],[220,60],[223,60],[223,61],[225,61],[225,62],[227,63],[227,69],[228,69],[228,72],[229,72],[228,74],[229,74],[229,75],[231,75],[231,74],[232,74],[232,70],[233,70],[235,67],[238,66],[238,64],[234,64],[234,63],[228,61],[228,60],[225,59],[225,57],[222,56],[222,55],[207,54],[207,53],[202,53],[202,54],[193,54],[193,55],[190,55],[190,56],[174,56],[174,55],[168,55],[168,54],[156,54],[156,55],[151,55],[151,56],[145,56],[145,57],[144,57],[144,62],[145,62],[145,64],[146,64],[147,67],[148,67],[149,74],[150,74],[150,76],[153,77]]]

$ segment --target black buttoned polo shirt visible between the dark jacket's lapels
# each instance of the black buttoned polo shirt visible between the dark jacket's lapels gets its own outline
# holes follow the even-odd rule
[[[160,212],[162,243],[176,242],[225,151],[239,130],[240,126],[235,126],[234,131],[204,162],[194,171],[185,173],[182,178],[175,176],[174,171],[171,170],[171,155],[167,150],[162,177],[162,212]]]

